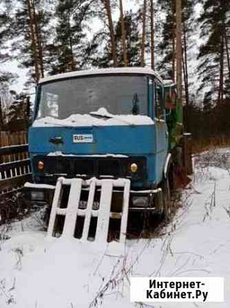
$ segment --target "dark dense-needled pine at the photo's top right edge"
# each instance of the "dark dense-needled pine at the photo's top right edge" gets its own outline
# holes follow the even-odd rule
[[[199,19],[200,38],[205,41],[198,55],[198,71],[202,81],[200,90],[209,87],[209,97],[216,100],[219,106],[224,100],[224,84],[229,77],[224,63],[229,59],[230,2],[204,0],[203,5],[204,10]]]

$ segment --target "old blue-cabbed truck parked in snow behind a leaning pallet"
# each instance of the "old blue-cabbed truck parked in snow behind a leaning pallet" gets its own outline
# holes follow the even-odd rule
[[[60,177],[122,178],[130,180],[129,213],[169,215],[170,190],[188,182],[184,137],[176,85],[150,68],[45,77],[36,88],[29,131],[28,195],[52,205]],[[119,189],[114,194],[116,208]],[[84,198],[83,191],[82,204]]]

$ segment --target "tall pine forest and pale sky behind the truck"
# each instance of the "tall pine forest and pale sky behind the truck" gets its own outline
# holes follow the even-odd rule
[[[90,68],[150,66],[176,81],[176,0],[0,0],[0,84]],[[230,1],[182,0],[185,129],[230,139]],[[17,99],[26,93],[14,93]]]

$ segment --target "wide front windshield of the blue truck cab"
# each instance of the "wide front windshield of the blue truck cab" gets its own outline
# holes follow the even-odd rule
[[[41,85],[37,119],[65,119],[105,108],[114,115],[147,115],[147,77],[94,76]]]

